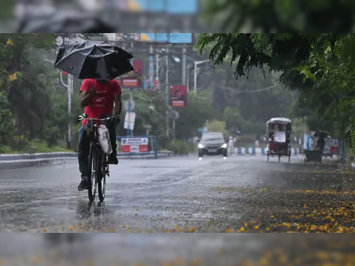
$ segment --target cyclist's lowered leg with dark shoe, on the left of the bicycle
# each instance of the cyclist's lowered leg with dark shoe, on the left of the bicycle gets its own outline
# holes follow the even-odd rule
[[[87,177],[88,177],[88,161],[89,161],[89,149],[90,142],[87,137],[85,126],[82,126],[79,130],[78,140],[78,162],[79,170],[81,173],[81,183],[78,186],[78,190],[87,189]]]

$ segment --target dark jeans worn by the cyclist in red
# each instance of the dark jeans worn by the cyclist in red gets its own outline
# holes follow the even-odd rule
[[[106,122],[105,126],[108,128],[110,133],[110,140],[113,152],[110,157],[116,157],[116,132],[115,132],[115,123],[113,121]],[[79,130],[79,140],[78,140],[78,161],[79,161],[79,170],[81,172],[81,179],[86,179],[89,174],[88,164],[89,164],[89,150],[90,150],[90,138],[87,136],[85,131],[86,126],[82,126]]]

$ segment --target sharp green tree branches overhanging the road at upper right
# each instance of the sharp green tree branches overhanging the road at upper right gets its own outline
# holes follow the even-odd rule
[[[354,41],[353,34],[201,34],[197,46],[212,44],[215,64],[229,57],[236,77],[264,65],[282,71],[280,81],[299,91],[304,115],[342,135],[353,121]]]

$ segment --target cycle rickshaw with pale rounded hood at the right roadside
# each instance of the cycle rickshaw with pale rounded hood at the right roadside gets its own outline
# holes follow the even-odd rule
[[[274,117],[266,123],[266,131],[269,138],[267,146],[267,161],[269,157],[288,156],[288,162],[291,160],[291,120],[285,117]]]

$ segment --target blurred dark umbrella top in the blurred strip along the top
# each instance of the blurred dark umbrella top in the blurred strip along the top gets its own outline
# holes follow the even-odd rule
[[[78,11],[56,11],[23,18],[18,33],[100,33],[115,28],[100,18]]]

